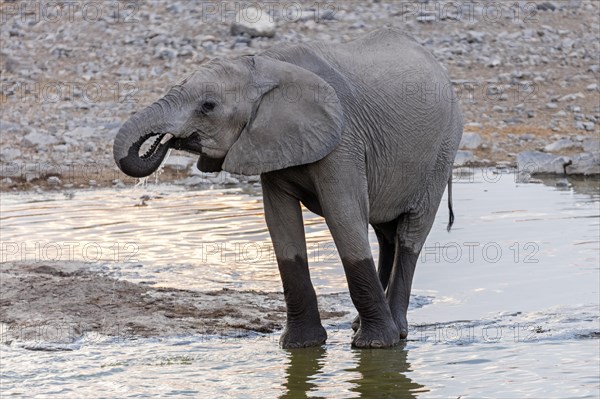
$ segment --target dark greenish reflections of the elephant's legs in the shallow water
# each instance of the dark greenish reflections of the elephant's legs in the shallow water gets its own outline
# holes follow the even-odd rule
[[[289,364],[284,384],[287,392],[280,399],[308,398],[311,390],[317,390],[317,381],[327,376],[322,370],[327,350],[318,347],[287,352]],[[411,370],[404,343],[391,349],[355,349],[352,354],[352,366],[343,370],[343,374],[357,376],[348,382],[353,384],[350,391],[359,394],[358,397],[408,399],[428,392],[407,376]]]

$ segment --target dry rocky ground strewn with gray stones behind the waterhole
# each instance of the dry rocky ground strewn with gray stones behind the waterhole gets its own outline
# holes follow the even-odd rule
[[[202,62],[381,26],[447,66],[468,133],[457,165],[600,173],[596,1],[271,2],[260,18],[240,2],[52,4],[0,3],[2,191],[133,184],[112,160],[116,132]],[[154,178],[238,182],[193,165],[174,153]]]

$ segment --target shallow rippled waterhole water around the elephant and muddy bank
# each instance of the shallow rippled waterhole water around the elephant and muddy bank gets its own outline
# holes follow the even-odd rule
[[[597,398],[600,190],[597,180],[556,183],[481,170],[455,181],[455,227],[446,233],[440,207],[413,284],[429,300],[409,311],[410,340],[393,350],[350,349],[349,320],[326,326],[323,348],[295,351],[278,348],[278,333],[86,335],[54,352],[13,343],[1,347],[2,396]],[[346,290],[322,219],[305,220],[317,292]],[[83,260],[156,286],[280,290],[254,189],[3,194],[1,223],[2,260]],[[79,245],[65,251],[69,242]]]

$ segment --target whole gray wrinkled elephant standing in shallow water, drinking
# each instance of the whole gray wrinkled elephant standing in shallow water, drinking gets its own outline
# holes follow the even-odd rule
[[[284,348],[327,338],[300,204],[322,215],[358,310],[352,344],[389,347],[407,336],[415,265],[462,135],[451,93],[433,56],[394,29],[343,45],[283,45],[202,65],[125,123],[114,156],[137,177],[154,172],[168,148],[200,155],[204,171],[261,174],[287,304]],[[150,134],[164,144],[140,158]]]

